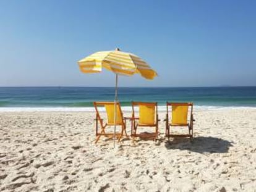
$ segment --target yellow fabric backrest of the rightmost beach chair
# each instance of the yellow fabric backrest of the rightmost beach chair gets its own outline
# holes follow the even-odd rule
[[[171,106],[171,123],[173,124],[186,124],[187,114],[189,112],[189,106],[191,106],[190,113],[192,114],[193,104],[191,102],[167,102],[167,112],[168,106]]]

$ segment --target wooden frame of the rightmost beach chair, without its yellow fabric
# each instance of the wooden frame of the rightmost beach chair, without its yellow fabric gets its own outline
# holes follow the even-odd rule
[[[190,120],[189,122],[187,122],[186,124],[176,124],[176,125],[171,125],[171,123],[169,123],[169,106],[171,106],[171,108],[173,106],[189,106],[191,107],[190,110]],[[188,108],[189,110],[189,108]],[[171,112],[172,113],[172,112]],[[189,118],[187,118],[188,120]],[[194,116],[193,116],[193,103],[192,102],[166,102],[166,119],[164,119],[164,121],[166,122],[166,129],[165,129],[165,135],[168,137],[189,137],[190,140],[193,138],[193,122],[194,120]],[[183,135],[174,135],[174,134],[170,134],[170,127],[188,127],[189,128],[189,134],[183,134]]]

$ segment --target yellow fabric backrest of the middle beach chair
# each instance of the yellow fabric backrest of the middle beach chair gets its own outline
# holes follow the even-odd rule
[[[133,115],[135,115],[134,106],[139,106],[139,124],[154,125],[156,123],[157,102],[132,102]]]

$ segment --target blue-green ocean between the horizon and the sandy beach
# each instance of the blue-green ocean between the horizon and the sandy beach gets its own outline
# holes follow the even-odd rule
[[[130,110],[131,101],[194,102],[196,108],[256,107],[256,86],[189,88],[118,88],[118,99]],[[0,111],[93,111],[93,101],[113,101],[114,87],[0,87]]]

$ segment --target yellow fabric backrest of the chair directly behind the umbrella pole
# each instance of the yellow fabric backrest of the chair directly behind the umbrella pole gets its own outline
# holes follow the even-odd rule
[[[98,106],[105,107],[108,118],[108,124],[115,124],[114,122],[114,102],[93,102],[96,113],[100,117]],[[101,117],[100,117],[101,118]],[[116,125],[122,125],[122,110],[119,102],[116,102]]]

